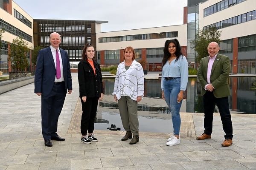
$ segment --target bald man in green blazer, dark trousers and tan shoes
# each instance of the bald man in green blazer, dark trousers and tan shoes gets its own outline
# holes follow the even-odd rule
[[[229,111],[228,96],[230,88],[228,76],[230,73],[230,59],[218,54],[220,50],[217,42],[208,45],[209,56],[200,61],[197,79],[202,85],[201,95],[204,101],[204,133],[198,140],[210,139],[212,134],[212,119],[215,104],[220,112],[222,127],[226,133],[222,146],[230,146],[233,138],[233,127]]]

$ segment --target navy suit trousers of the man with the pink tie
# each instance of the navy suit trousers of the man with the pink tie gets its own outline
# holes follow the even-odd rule
[[[66,97],[65,83],[53,85],[49,96],[43,95],[41,99],[42,134],[44,140],[48,140],[52,136],[57,136],[58,117],[61,114]]]

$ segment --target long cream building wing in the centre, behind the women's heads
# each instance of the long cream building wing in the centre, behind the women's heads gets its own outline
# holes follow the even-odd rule
[[[148,70],[160,71],[164,43],[173,38],[179,39],[182,51],[186,53],[186,24],[97,33],[98,62],[117,65],[123,61],[125,47],[132,46],[136,60],[144,59],[148,62]]]

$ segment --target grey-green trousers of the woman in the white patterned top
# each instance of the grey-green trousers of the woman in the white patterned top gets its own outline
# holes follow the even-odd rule
[[[128,96],[121,96],[118,107],[124,129],[139,135],[138,102]]]

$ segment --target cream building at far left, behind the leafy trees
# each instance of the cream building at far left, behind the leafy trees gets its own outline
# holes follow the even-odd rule
[[[12,40],[21,37],[28,42],[28,46],[33,48],[33,18],[29,16],[22,8],[20,8],[12,0],[0,0],[0,29],[3,28],[5,32],[1,39],[2,45],[2,59],[0,61],[0,71],[3,74],[8,74],[12,71],[11,63],[8,62],[8,51]],[[31,71],[32,51],[27,54],[29,67],[27,71]]]

